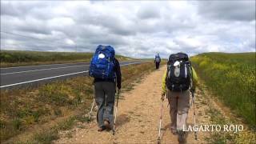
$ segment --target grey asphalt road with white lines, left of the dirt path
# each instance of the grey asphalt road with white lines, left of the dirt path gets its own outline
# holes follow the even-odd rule
[[[120,66],[142,63],[120,62]],[[18,66],[0,68],[0,89],[9,89],[18,86],[37,85],[57,79],[66,79],[78,75],[87,75],[90,63],[67,63],[40,66]]]

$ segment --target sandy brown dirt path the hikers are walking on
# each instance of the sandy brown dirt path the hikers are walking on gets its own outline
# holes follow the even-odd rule
[[[112,132],[98,132],[96,120],[83,123],[72,130],[60,132],[60,139],[55,143],[157,143],[158,123],[160,113],[160,96],[163,66],[155,70],[130,92],[122,93],[123,99],[118,103],[118,118],[116,134]],[[198,124],[205,124],[209,118],[205,116],[206,100],[200,98],[197,90],[196,99]],[[170,133],[170,114],[165,100],[162,129],[162,143],[178,143],[177,135]],[[190,109],[188,124],[193,124],[193,109]],[[68,136],[67,136],[68,135]],[[198,141],[194,140],[194,133],[189,133],[188,143],[205,143],[206,133],[198,134]]]

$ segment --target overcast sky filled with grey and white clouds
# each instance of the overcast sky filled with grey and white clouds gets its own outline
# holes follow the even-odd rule
[[[1,50],[255,51],[255,1],[1,1]]]

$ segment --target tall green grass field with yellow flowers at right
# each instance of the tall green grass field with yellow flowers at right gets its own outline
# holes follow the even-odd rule
[[[198,54],[191,61],[212,93],[255,128],[255,53]]]

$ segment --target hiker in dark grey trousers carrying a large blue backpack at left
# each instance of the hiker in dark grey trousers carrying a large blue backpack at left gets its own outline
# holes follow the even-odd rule
[[[111,130],[114,125],[114,99],[116,86],[121,89],[122,74],[114,58],[112,46],[99,45],[90,62],[89,74],[94,77],[94,95],[98,106],[98,131]]]

